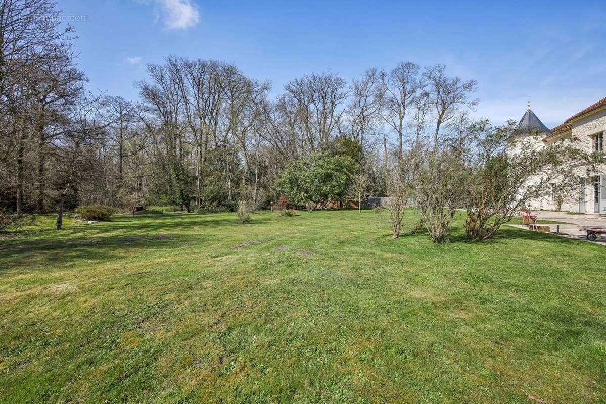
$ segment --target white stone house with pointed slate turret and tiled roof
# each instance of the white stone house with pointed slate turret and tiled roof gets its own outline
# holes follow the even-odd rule
[[[520,135],[522,139],[510,142],[508,154],[517,154],[525,150],[539,150],[545,145],[556,142],[571,142],[574,147],[587,153],[601,154],[606,140],[606,98],[585,108],[566,119],[563,124],[549,130],[541,120],[530,110],[530,107],[519,122],[519,127],[528,128],[527,134]],[[535,136],[530,136],[534,129]],[[520,141],[521,140],[521,141]],[[579,161],[571,165],[574,174],[579,176],[578,194],[567,197],[562,204],[562,210],[587,214],[606,214],[606,163],[596,161]],[[530,179],[529,182],[532,183]],[[529,204],[533,210],[557,210],[556,196],[547,196],[533,200]]]

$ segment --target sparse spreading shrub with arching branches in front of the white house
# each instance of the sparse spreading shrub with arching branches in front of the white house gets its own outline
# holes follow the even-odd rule
[[[474,151],[467,158],[470,179],[467,187],[465,233],[471,240],[493,236],[532,200],[554,197],[561,210],[564,199],[574,199],[579,177],[565,170],[588,156],[568,145],[553,144],[507,156],[507,142],[519,131],[515,122],[504,127],[485,125],[470,139]],[[571,139],[574,142],[574,139]]]

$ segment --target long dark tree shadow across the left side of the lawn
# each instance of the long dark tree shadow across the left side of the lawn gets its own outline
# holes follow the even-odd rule
[[[195,247],[217,241],[216,235],[204,231],[205,228],[242,227],[229,214],[212,218],[185,214],[140,217],[145,220],[121,217],[111,222],[64,230],[26,231],[23,237],[0,242],[0,254],[2,260],[10,262],[7,265],[10,268],[42,269],[49,265],[65,265],[72,260],[110,261],[156,249]],[[273,217],[258,216],[246,228],[270,221]],[[196,228],[201,231],[195,231]]]

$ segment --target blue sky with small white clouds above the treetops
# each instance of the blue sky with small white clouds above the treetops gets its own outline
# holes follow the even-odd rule
[[[90,88],[138,97],[170,54],[234,62],[273,94],[312,71],[351,79],[398,61],[478,81],[478,117],[548,127],[606,97],[606,2],[57,0]]]

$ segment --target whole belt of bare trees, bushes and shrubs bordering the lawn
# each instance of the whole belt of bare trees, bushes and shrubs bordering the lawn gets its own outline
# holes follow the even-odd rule
[[[233,64],[167,56],[135,83],[138,100],[93,94],[55,3],[0,7],[0,208],[58,212],[58,227],[85,204],[236,210],[285,194],[313,210],[375,195],[391,198],[395,237],[415,200],[436,241],[459,207],[481,210],[473,237],[485,238],[486,215],[505,220],[507,204],[544,193],[548,179],[522,184],[561,154],[507,159],[515,126],[471,119],[476,81],[441,64],[369,68],[349,82],[310,73],[270,96],[269,81]]]

